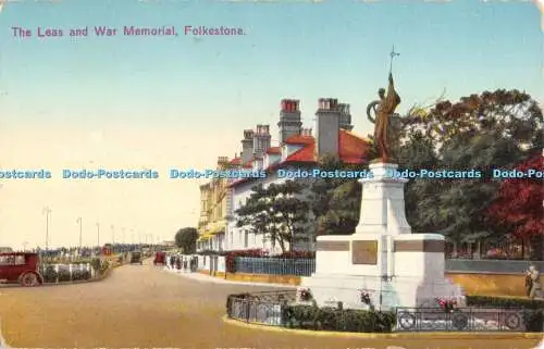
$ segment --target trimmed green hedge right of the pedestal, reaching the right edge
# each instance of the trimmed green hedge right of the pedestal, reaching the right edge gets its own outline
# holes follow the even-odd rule
[[[544,323],[544,300],[467,296],[467,307],[523,308],[523,322],[526,324],[526,331],[542,332],[542,324]]]

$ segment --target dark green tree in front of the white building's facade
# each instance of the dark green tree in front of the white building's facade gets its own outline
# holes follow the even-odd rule
[[[260,184],[236,211],[236,225],[263,235],[273,246],[277,244],[282,252],[286,251],[288,242],[290,250],[294,242],[308,238],[309,204],[301,195],[302,185],[295,180],[270,184],[267,188]]]

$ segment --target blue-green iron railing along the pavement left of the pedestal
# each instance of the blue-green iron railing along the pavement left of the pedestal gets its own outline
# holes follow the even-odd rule
[[[237,273],[311,276],[316,259],[237,257]]]

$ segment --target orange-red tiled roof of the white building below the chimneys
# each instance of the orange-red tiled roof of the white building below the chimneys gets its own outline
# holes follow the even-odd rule
[[[267,170],[274,171],[281,165],[288,163],[307,163],[312,164],[317,162],[316,159],[316,139],[312,136],[293,136],[289,137],[286,144],[290,145],[302,145],[304,147],[292,153],[285,159],[285,161],[275,163],[269,166]],[[370,147],[369,140],[356,136],[346,129],[341,129],[338,132],[338,155],[344,163],[359,164],[364,162],[364,158],[368,153]],[[252,178],[242,178],[235,180],[230,186],[236,186],[237,184],[251,180]]]

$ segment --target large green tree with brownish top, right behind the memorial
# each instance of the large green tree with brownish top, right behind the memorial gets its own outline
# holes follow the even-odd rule
[[[416,112],[417,111],[417,112]],[[483,217],[500,185],[491,177],[527,149],[542,148],[542,110],[518,90],[485,91],[459,102],[441,101],[413,109],[400,120],[396,151],[401,165],[419,170],[482,171],[483,178],[410,180],[407,219],[420,232],[442,232],[454,239],[491,233]]]

